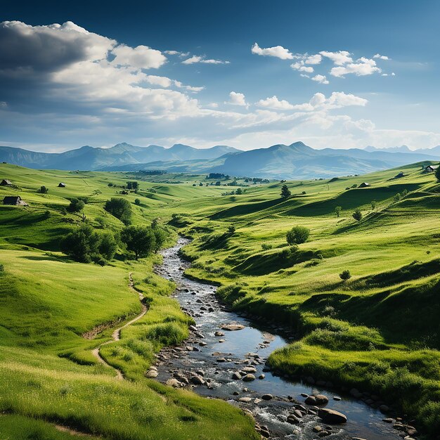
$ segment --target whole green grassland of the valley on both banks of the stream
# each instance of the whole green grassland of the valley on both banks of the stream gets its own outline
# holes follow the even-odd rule
[[[60,238],[82,221],[63,212],[68,198],[86,197],[86,221],[100,228],[102,217],[117,233],[123,225],[103,205],[131,180],[139,181],[138,192],[117,196],[131,202],[136,224],[159,218],[169,243],[176,232],[194,239],[183,250],[193,261],[188,275],[221,285],[219,295],[235,309],[296,330],[298,341],[269,358],[273,368],[381,394],[438,432],[440,186],[421,169],[287,182],[292,196],[283,199],[283,183],[275,181],[240,180],[242,194],[231,194],[238,187],[230,181],[211,185],[205,176],[1,164],[0,178],[17,188],[0,187],[0,198],[20,195],[30,206],[0,206],[0,433],[22,438],[8,428],[17,425],[46,435],[33,438],[70,438],[54,427],[65,425],[108,439],[256,438],[252,422],[226,403],[143,376],[154,352],[184,339],[190,323],[168,297],[172,284],[153,274],[157,255],[136,262],[118,252],[101,267],[60,252]],[[399,172],[404,176],[395,179]],[[66,188],[57,187],[60,181]],[[370,185],[358,188],[365,181]],[[37,193],[41,185],[47,194]],[[355,209],[361,221],[353,219]],[[285,235],[297,225],[310,236],[292,249]],[[344,270],[348,280],[339,277]],[[91,349],[110,339],[115,322],[139,313],[127,287],[130,272],[149,310],[102,350],[127,377],[117,381]],[[173,337],[149,337],[165,316]],[[103,323],[108,330],[96,339],[82,337]],[[222,430],[226,420],[233,427]]]

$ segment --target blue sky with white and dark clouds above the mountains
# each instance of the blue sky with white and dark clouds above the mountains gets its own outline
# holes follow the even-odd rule
[[[440,1],[5,1],[0,145],[440,144]]]

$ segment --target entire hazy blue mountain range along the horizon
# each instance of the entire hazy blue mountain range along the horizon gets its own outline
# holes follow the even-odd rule
[[[269,148],[242,151],[226,145],[193,148],[175,144],[138,147],[118,143],[111,148],[82,148],[64,153],[39,153],[0,146],[0,161],[36,169],[139,171],[162,169],[168,172],[224,173],[266,179],[313,179],[365,174],[400,167],[413,162],[440,160],[440,145],[424,150],[396,148],[316,150],[302,142],[277,144]]]

